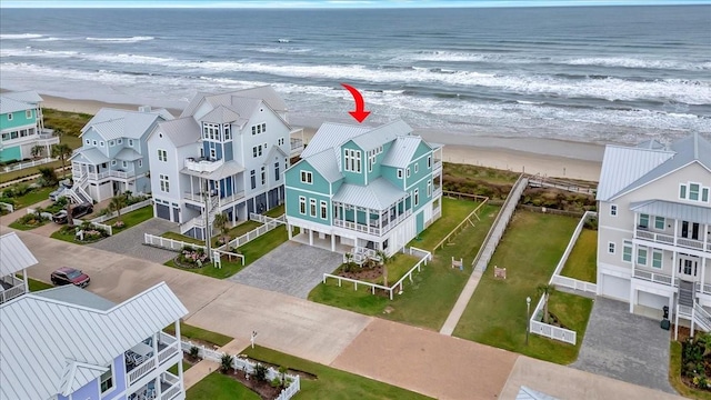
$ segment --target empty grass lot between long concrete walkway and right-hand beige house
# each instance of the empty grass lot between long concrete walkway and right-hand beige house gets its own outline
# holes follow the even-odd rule
[[[578,332],[577,346],[535,334],[525,346],[525,298],[531,297],[533,312],[537,287],[548,283],[577,223],[573,218],[517,211],[453,334],[561,364],[574,361],[592,300],[551,296],[549,311]],[[493,278],[493,266],[507,268],[505,280]]]

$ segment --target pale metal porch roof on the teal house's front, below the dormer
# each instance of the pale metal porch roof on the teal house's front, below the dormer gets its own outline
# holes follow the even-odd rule
[[[333,201],[372,210],[385,210],[408,193],[395,188],[384,178],[378,178],[368,186],[343,183],[333,196]]]

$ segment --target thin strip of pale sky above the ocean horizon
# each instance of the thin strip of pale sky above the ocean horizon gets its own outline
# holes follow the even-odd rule
[[[0,0],[0,8],[444,8],[711,4],[711,0]]]

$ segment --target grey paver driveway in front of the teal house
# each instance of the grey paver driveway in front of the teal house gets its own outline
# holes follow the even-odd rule
[[[339,253],[288,241],[229,280],[306,299],[342,261]]]

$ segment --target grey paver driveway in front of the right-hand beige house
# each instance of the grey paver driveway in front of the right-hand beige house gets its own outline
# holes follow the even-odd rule
[[[630,306],[598,297],[578,361],[571,367],[675,393],[669,384],[670,333]]]

